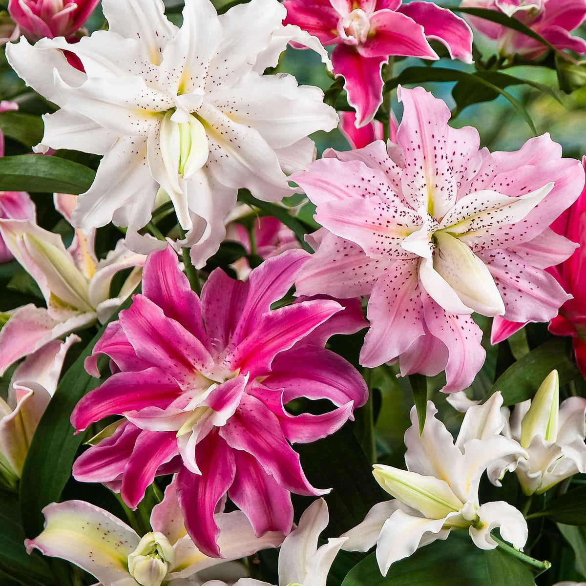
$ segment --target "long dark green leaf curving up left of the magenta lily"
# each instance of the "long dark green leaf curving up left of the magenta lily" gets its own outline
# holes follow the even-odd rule
[[[130,304],[131,297],[118,311],[128,308]],[[117,318],[118,311],[110,318],[110,322]],[[43,529],[41,510],[49,503],[59,501],[71,476],[71,466],[84,434],[73,435],[69,418],[81,397],[100,384],[100,379],[87,374],[83,363],[105,328],[106,325],[64,374],[30,443],[20,487],[22,523],[30,539]]]

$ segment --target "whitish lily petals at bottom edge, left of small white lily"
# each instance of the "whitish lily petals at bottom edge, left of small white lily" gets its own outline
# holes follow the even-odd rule
[[[325,500],[315,500],[305,509],[297,528],[285,537],[279,551],[280,586],[326,586],[333,561],[346,537],[330,537],[318,547],[318,539],[329,522]],[[223,581],[205,582],[203,586],[227,586]],[[234,586],[271,586],[253,578],[241,578]]]

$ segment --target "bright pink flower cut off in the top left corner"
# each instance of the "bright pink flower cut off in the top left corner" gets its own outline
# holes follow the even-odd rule
[[[10,0],[8,12],[31,41],[73,40],[100,0]]]

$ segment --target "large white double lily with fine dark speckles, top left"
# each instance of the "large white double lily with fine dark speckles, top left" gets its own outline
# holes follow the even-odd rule
[[[171,198],[197,267],[219,247],[237,190],[260,199],[291,195],[287,176],[314,158],[308,135],[338,124],[316,87],[288,74],[264,75],[291,40],[329,58],[318,39],[283,26],[278,0],[252,0],[218,16],[209,0],[186,0],[179,29],[162,0],[104,0],[108,30],[70,45],[21,38],[12,67],[60,106],[44,117],[47,147],[104,155],[80,197],[74,225],[128,226],[138,252],[165,243],[141,238],[159,186]],[[62,50],[75,53],[84,72]]]

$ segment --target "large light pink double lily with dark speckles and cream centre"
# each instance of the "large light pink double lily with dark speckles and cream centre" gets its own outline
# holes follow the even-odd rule
[[[329,151],[292,176],[323,226],[295,285],[368,295],[360,363],[445,370],[452,393],[485,359],[472,312],[547,322],[570,298],[543,268],[575,250],[548,224],[580,194],[584,169],[547,134],[516,152],[479,151],[475,128],[448,126],[442,100],[423,88],[399,87],[398,97],[397,144]]]

